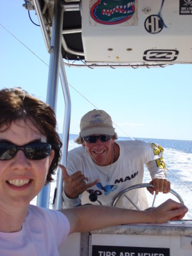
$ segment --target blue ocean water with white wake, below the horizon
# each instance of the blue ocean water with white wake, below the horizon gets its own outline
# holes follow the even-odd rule
[[[68,150],[72,148],[79,147],[74,139],[77,138],[76,134],[70,134],[68,142]],[[184,204],[188,207],[189,211],[184,217],[185,220],[192,220],[192,141],[184,140],[162,140],[162,139],[148,139],[148,138],[134,138],[135,140],[142,140],[149,143],[157,143],[164,148],[163,156],[166,162],[167,179],[171,182],[171,188],[179,193]],[[118,140],[131,140],[127,137],[119,137]],[[81,146],[80,146],[81,147]],[[175,177],[175,175],[177,177]],[[145,168],[144,180],[143,182],[150,182],[150,174]],[[187,186],[186,186],[187,185]],[[50,195],[50,208],[52,207],[52,198],[54,195],[54,188],[56,182],[51,184],[51,195]],[[188,188],[189,186],[189,188]],[[191,189],[190,189],[191,188]],[[149,206],[152,205],[154,196],[150,195],[148,191],[146,192]],[[172,198],[177,200],[177,198],[171,193],[163,194],[159,193],[156,197],[156,204],[159,205],[166,199]],[[35,200],[33,200],[33,203]]]

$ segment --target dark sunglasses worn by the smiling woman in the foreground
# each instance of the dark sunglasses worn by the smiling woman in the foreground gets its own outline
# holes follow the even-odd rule
[[[51,145],[44,142],[31,142],[17,146],[10,142],[0,142],[0,160],[12,159],[19,150],[22,150],[28,159],[40,160],[51,154]]]

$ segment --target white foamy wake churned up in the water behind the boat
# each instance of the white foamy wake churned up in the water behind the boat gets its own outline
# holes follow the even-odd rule
[[[69,140],[68,150],[72,148],[79,147],[77,143],[74,143],[74,139]],[[182,152],[180,150],[175,150],[173,148],[164,148],[164,161],[167,164],[168,169],[175,173],[180,180],[186,182],[186,184],[192,189],[192,154]],[[191,196],[192,191],[185,186],[179,179],[177,179],[169,170],[167,170],[167,178],[171,182],[171,187],[175,190],[184,201],[184,204],[188,207],[189,211],[184,217],[185,220],[192,220],[192,204],[191,204]],[[55,175],[56,179],[56,175]],[[143,182],[150,182],[150,174],[145,168],[145,175]],[[56,186],[56,182],[51,183],[51,195],[50,195],[50,205],[49,207],[52,209],[52,200],[54,195],[54,188]],[[148,191],[146,191],[149,206],[152,205],[154,196],[150,195]],[[177,201],[177,198],[173,196],[171,193],[167,195],[159,193],[156,197],[156,204],[159,205],[164,202],[166,199],[172,198]],[[36,198],[31,202],[31,204],[36,204]]]

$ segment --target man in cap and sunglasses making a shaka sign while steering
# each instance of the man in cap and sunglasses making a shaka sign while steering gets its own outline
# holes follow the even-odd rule
[[[111,116],[93,109],[81,118],[77,147],[68,152],[67,175],[63,177],[63,207],[90,204],[88,195],[94,193],[103,205],[112,205],[120,191],[143,182],[144,164],[150,172],[154,188],[150,193],[168,193],[163,148],[140,140],[118,141]],[[131,193],[131,194],[130,194]],[[139,209],[148,207],[145,191],[130,191],[129,197]],[[127,200],[118,207],[135,209]]]

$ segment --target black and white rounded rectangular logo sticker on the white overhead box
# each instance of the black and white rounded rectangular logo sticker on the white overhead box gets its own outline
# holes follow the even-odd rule
[[[175,61],[179,51],[177,50],[147,50],[143,54],[145,61]]]

